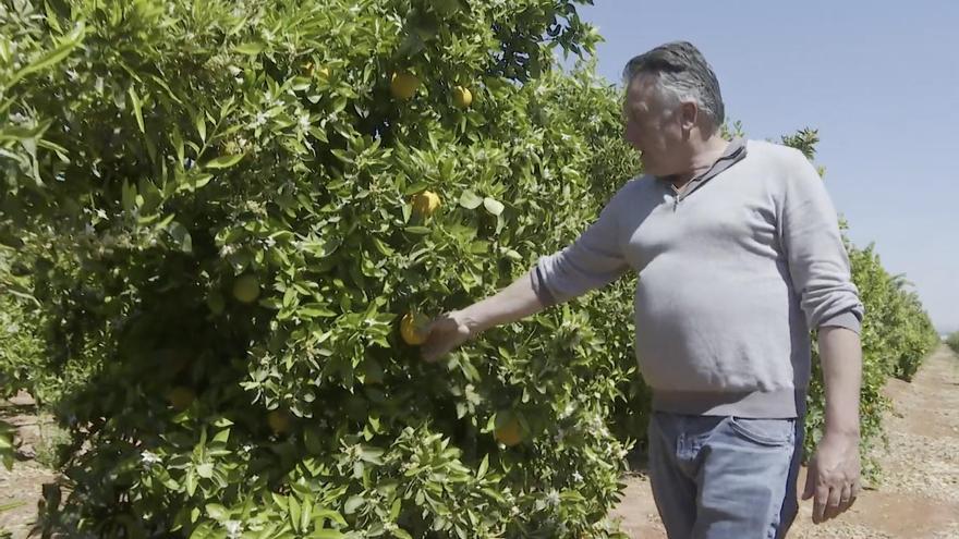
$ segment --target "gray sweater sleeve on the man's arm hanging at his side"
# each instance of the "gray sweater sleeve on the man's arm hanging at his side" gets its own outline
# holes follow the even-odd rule
[[[839,326],[858,333],[864,307],[852,282],[836,209],[802,154],[790,151],[788,166],[779,234],[806,323],[811,329]]]

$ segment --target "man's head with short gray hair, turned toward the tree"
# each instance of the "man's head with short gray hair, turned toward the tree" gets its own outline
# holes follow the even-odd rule
[[[692,44],[670,42],[630,60],[622,76],[624,138],[643,152],[646,172],[687,172],[726,115],[706,59]]]

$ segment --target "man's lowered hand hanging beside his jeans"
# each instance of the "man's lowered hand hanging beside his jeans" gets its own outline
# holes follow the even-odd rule
[[[859,436],[826,433],[810,462],[803,500],[815,495],[813,523],[835,518],[855,502],[860,482]]]

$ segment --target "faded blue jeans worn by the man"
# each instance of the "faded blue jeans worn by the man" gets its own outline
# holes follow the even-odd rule
[[[779,539],[796,518],[802,421],[650,419],[650,480],[670,539]]]

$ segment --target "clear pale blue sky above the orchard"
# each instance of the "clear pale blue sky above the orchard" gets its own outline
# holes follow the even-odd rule
[[[751,138],[820,130],[816,162],[859,246],[959,330],[959,1],[596,0],[599,73],[683,39]]]

